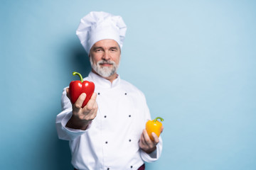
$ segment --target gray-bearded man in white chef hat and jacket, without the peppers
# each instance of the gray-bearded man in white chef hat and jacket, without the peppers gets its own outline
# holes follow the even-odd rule
[[[86,94],[71,104],[66,87],[56,118],[58,137],[69,140],[75,169],[142,170],[144,162],[161,155],[161,137],[153,133],[150,140],[144,129],[151,120],[144,94],[117,74],[126,30],[122,17],[105,12],[90,12],[78,26],[92,66],[84,80],[94,82],[95,93],[82,108]]]

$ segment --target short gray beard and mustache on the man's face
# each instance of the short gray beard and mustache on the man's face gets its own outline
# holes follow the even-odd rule
[[[110,68],[110,67],[101,67],[100,64],[103,64],[103,63],[112,64],[112,68]],[[96,64],[93,64],[92,63],[92,57],[90,57],[90,64],[91,64],[92,69],[95,72],[97,72],[97,74],[99,74],[101,77],[110,77],[110,76],[112,76],[114,73],[117,72],[117,69],[119,67],[119,65],[117,65],[113,61],[100,60]]]

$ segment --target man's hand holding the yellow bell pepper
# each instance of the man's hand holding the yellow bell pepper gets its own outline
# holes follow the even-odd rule
[[[163,130],[164,126],[161,127],[161,132],[163,132]],[[154,152],[154,150],[156,149],[156,145],[159,143],[159,137],[157,137],[154,132],[152,132],[152,137],[154,138],[154,140],[151,140],[149,138],[149,135],[144,129],[139,140],[139,147],[147,154]]]

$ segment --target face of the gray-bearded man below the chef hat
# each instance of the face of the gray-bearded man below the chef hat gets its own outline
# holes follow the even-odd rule
[[[102,77],[111,77],[117,72],[121,51],[115,40],[100,40],[90,49],[92,69]]]

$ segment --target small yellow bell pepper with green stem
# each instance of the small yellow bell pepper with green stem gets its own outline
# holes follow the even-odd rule
[[[154,120],[149,120],[146,122],[146,132],[151,140],[154,140],[152,137],[152,132],[154,132],[158,137],[160,136],[162,123],[159,122],[158,119],[160,119],[161,122],[164,121],[163,118],[157,117]]]

